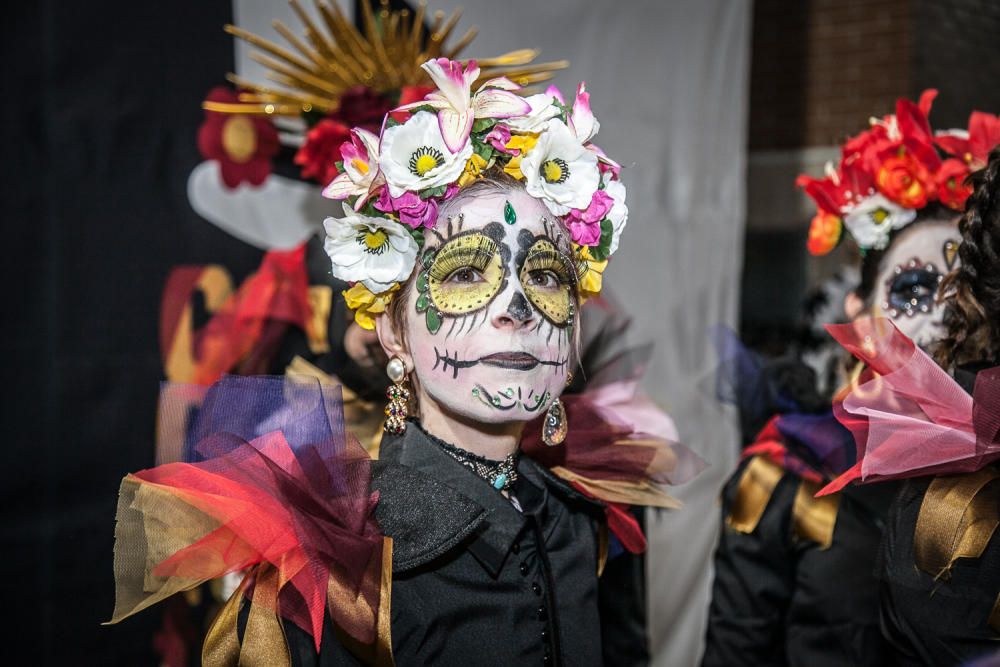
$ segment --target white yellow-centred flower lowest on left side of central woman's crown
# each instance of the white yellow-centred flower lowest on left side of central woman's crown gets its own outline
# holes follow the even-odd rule
[[[388,218],[371,218],[344,204],[343,218],[323,221],[323,250],[333,275],[361,282],[379,294],[410,276],[417,260],[417,243],[406,227]]]

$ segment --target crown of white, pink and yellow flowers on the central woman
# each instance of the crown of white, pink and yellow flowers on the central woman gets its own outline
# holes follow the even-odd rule
[[[487,173],[522,181],[562,220],[581,296],[600,292],[628,208],[620,166],[591,142],[600,124],[584,84],[568,105],[554,86],[521,97],[506,77],[473,93],[475,61],[438,58],[422,67],[437,89],[389,113],[380,136],[354,128],[340,148],[339,173],[323,190],[344,201],[344,217],[324,223],[325,249],[333,275],[354,283],[344,296],[357,322],[374,327],[374,315],[413,271],[439,206]],[[515,221],[513,209],[506,217]]]

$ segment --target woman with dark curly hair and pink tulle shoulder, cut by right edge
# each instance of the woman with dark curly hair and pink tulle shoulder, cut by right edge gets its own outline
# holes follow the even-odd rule
[[[863,458],[831,488],[909,478],[879,558],[883,628],[905,665],[995,660],[1000,639],[1000,148],[985,153],[1000,119],[978,120],[992,140],[966,152],[985,166],[942,286],[945,370],[884,320],[832,331],[874,373],[840,401]]]

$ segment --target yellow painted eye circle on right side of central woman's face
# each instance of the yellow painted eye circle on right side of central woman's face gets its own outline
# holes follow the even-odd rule
[[[547,320],[557,326],[570,323],[576,269],[569,257],[551,241],[538,239],[528,248],[519,277],[528,300]]]

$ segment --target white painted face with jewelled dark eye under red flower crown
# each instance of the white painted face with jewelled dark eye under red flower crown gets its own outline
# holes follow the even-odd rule
[[[901,232],[882,258],[875,283],[875,315],[892,318],[923,348],[944,333],[944,308],[936,301],[938,285],[958,262],[955,220],[920,222]]]

